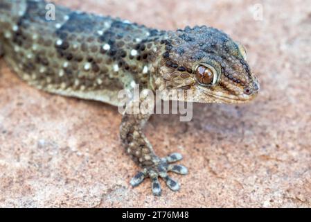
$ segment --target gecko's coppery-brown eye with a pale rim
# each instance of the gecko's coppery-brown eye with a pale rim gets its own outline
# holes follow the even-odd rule
[[[195,78],[201,85],[214,85],[217,81],[217,73],[212,67],[199,65],[195,69]]]

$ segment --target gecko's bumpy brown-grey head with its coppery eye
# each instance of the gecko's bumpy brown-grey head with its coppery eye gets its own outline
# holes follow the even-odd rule
[[[222,31],[186,27],[161,44],[165,51],[159,64],[161,81],[156,83],[162,89],[191,89],[191,101],[199,103],[244,103],[258,94],[245,47]]]

